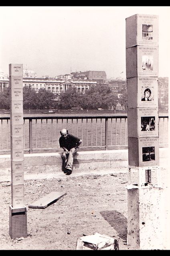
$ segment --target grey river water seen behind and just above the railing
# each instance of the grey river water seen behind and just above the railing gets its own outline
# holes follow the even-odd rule
[[[9,117],[8,113],[1,113],[0,117]],[[81,138],[83,143],[81,147],[90,150],[94,147],[96,150],[104,149],[105,145],[105,117],[108,117],[108,146],[122,146],[127,148],[127,113],[112,113],[103,111],[88,111],[83,113],[71,112],[64,113],[24,113],[25,118],[32,117],[32,148],[43,149],[59,148],[60,130],[67,128],[69,133]],[[120,118],[112,118],[119,116]],[[168,116],[168,113],[159,113],[159,116]],[[36,117],[43,118],[34,119]],[[50,119],[53,117],[54,119]],[[57,119],[59,117],[59,119]],[[68,119],[61,119],[61,118]],[[76,118],[82,117],[82,118]],[[85,117],[88,117],[85,118]],[[96,118],[94,118],[96,117]],[[47,118],[47,119],[46,119]],[[73,118],[73,119],[71,119]],[[93,118],[93,119],[92,119]],[[164,121],[164,122],[163,122]],[[168,119],[160,118],[159,125],[160,143],[168,138]],[[3,120],[0,124],[0,154],[3,150],[10,149],[10,121]],[[29,149],[29,120],[24,124],[24,149]],[[111,149],[111,147],[110,147]]]

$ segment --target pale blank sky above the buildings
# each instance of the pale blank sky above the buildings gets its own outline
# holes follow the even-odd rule
[[[125,78],[125,18],[137,13],[159,15],[159,76],[168,76],[170,6],[0,6],[0,69],[22,63],[38,76]]]

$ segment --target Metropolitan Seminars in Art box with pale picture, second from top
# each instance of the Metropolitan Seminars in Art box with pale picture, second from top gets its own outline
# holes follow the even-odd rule
[[[126,49],[126,78],[158,77],[158,46],[134,46]]]

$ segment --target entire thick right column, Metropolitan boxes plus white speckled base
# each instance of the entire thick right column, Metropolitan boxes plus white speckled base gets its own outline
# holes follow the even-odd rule
[[[137,249],[161,248],[160,219],[156,216],[161,196],[158,191],[157,15],[135,14],[126,19],[126,77],[130,185],[127,242]],[[132,170],[137,177],[135,182]]]

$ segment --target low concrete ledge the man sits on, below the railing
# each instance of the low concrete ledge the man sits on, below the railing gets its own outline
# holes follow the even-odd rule
[[[168,148],[160,148],[160,166],[166,167]],[[24,173],[61,172],[61,153],[24,154]],[[74,172],[127,168],[128,150],[80,151],[74,159]],[[10,155],[0,155],[0,175],[9,175]]]

